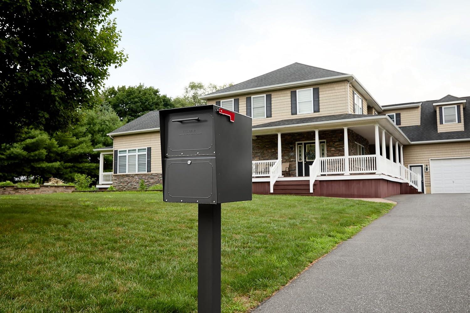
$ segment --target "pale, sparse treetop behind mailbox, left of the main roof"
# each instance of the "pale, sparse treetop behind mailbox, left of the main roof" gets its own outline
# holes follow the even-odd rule
[[[228,83],[219,86],[209,83],[205,86],[201,82],[189,82],[188,86],[184,87],[183,95],[173,99],[173,105],[174,107],[192,107],[207,104],[206,100],[199,99],[199,97],[232,85],[232,83]]]

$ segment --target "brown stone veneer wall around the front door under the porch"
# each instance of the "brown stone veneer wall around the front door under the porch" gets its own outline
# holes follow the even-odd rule
[[[323,130],[319,131],[319,139],[326,140],[326,156],[344,156],[344,130]],[[290,176],[296,176],[296,148],[298,141],[315,141],[315,132],[288,133],[281,134],[282,162],[289,162]],[[370,154],[369,142],[352,130],[348,130],[349,155],[357,155],[354,142],[364,146],[365,153]],[[252,140],[253,160],[275,160],[277,159],[277,134],[256,136]],[[290,145],[294,150],[290,150]]]

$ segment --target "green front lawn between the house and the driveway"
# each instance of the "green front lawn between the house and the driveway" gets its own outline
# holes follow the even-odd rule
[[[245,312],[392,208],[222,204],[222,312]],[[0,196],[0,312],[196,312],[197,206],[161,192]]]

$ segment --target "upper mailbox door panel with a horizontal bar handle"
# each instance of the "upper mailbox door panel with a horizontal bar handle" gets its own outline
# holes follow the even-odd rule
[[[214,118],[208,111],[170,114],[165,121],[166,155],[214,154]]]

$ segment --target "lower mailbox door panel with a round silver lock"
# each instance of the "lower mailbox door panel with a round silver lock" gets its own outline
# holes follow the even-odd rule
[[[217,203],[215,157],[165,159],[164,200]]]

